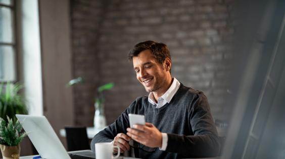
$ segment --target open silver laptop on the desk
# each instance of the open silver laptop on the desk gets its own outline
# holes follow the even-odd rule
[[[92,151],[68,153],[45,116],[16,114],[41,158],[95,158]]]

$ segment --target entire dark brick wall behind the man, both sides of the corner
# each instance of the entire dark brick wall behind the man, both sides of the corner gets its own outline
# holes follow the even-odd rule
[[[225,120],[232,54],[228,43],[229,1],[71,1],[74,77],[86,79],[74,88],[78,125],[92,125],[93,96],[108,82],[105,113],[113,122],[136,97],[147,95],[135,78],[128,51],[138,42],[167,44],[172,75],[185,86],[203,91],[215,119]]]

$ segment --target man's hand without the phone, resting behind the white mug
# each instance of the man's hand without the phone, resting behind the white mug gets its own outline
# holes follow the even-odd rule
[[[131,138],[129,136],[127,136],[126,134],[119,133],[114,138],[113,144],[119,146],[120,152],[123,153],[123,152],[130,149],[130,145],[129,145],[130,139]],[[117,148],[114,148],[113,152],[115,152],[115,153],[118,152]]]

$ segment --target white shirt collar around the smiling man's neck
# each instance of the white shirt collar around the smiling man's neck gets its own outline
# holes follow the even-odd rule
[[[160,100],[162,98],[167,103],[169,103],[171,101],[171,99],[173,98],[173,96],[175,95],[175,93],[177,92],[177,90],[179,89],[179,86],[180,86],[180,83],[178,82],[178,80],[176,80],[175,77],[173,77],[173,82],[172,82],[171,86],[161,97],[158,98],[158,100]],[[149,94],[148,100],[151,104],[153,104],[153,105],[156,104],[153,92],[151,92]]]

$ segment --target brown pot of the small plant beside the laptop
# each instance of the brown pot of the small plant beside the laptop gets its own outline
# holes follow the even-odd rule
[[[20,157],[20,144],[17,146],[7,146],[0,144],[3,159],[18,159]]]

